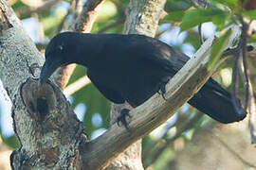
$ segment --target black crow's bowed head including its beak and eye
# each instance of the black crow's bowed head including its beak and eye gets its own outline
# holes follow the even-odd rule
[[[40,82],[43,84],[54,71],[66,64],[75,62],[77,51],[77,33],[64,32],[55,36],[46,47],[46,61],[40,74]]]

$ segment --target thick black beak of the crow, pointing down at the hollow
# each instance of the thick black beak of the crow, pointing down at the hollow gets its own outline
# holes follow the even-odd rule
[[[46,59],[46,62],[44,63],[41,70],[40,83],[44,84],[58,67],[58,62],[51,59]]]

